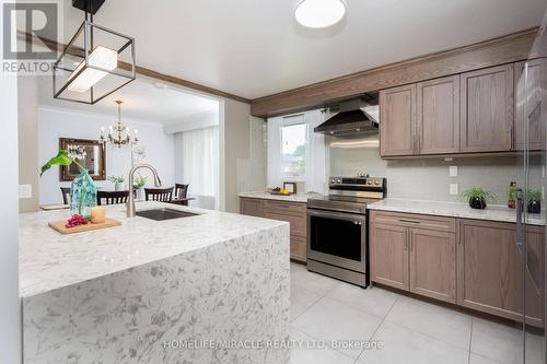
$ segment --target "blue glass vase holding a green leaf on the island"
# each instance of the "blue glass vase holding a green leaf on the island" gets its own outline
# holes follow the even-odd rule
[[[84,219],[91,218],[91,208],[97,203],[97,187],[88,169],[80,169],[80,174],[70,185],[70,214],[78,213]]]

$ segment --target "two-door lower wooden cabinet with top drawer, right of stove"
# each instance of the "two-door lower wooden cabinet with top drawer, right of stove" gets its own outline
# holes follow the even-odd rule
[[[370,237],[373,282],[456,302],[454,219],[373,211]]]

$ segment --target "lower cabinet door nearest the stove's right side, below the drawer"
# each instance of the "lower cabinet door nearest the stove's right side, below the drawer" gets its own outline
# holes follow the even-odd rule
[[[408,290],[408,228],[372,225],[371,280]]]

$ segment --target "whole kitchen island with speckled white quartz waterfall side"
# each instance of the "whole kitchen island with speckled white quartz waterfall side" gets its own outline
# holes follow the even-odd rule
[[[20,215],[24,363],[288,361],[270,345],[288,339],[289,224],[168,208],[199,215],[113,206],[121,226],[71,235],[47,226],[67,210]]]

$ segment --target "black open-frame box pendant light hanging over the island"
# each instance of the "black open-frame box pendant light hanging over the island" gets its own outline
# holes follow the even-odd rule
[[[105,0],[72,0],[85,20],[54,63],[54,98],[95,104],[136,79],[135,39],[93,23]]]

